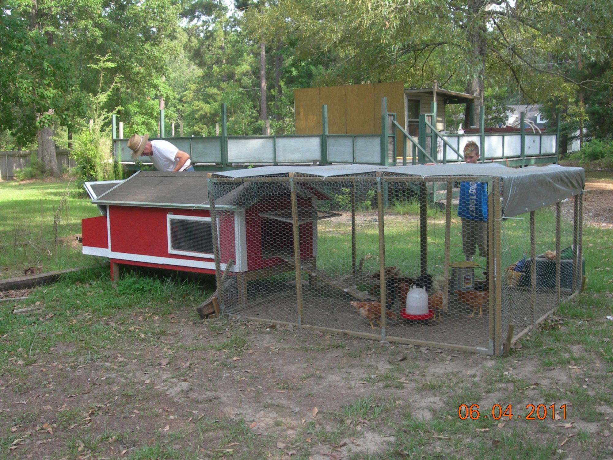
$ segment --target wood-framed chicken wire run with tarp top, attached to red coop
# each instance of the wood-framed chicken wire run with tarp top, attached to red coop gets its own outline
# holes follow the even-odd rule
[[[219,304],[270,323],[499,355],[582,288],[584,182],[583,169],[557,165],[211,173]],[[467,205],[480,221],[462,218],[464,186],[481,190]],[[242,220],[256,231],[245,236]],[[407,306],[423,292],[413,286],[427,309]]]

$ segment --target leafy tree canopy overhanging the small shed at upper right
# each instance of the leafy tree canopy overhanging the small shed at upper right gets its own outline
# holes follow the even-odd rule
[[[483,96],[495,82],[543,101],[582,84],[566,74],[566,61],[606,60],[611,10],[604,0],[287,0],[245,17],[253,36],[295,39],[297,56],[334,56],[318,83],[420,87],[436,79]]]

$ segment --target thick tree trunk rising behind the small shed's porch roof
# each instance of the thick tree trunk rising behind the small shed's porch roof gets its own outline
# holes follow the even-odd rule
[[[470,120],[470,108],[466,105],[464,126],[467,128],[470,128],[470,126],[479,128],[481,110],[483,110],[485,52],[487,48],[484,9],[487,3],[484,0],[471,0],[467,5],[468,10],[470,10],[467,20],[468,49],[471,53],[470,61],[476,72],[474,77],[466,84],[466,93],[479,97],[478,100],[474,101],[474,120]]]

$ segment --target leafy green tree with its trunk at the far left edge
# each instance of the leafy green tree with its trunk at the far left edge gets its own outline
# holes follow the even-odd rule
[[[28,20],[11,4],[0,11],[0,43],[0,129],[18,145],[39,134],[39,158],[60,175],[51,136],[55,123],[69,124],[78,112],[74,53],[37,26],[33,9]]]

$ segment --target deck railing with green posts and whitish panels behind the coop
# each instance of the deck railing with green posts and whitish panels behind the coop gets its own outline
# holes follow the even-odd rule
[[[481,111],[483,112],[483,111]],[[396,120],[395,113],[387,112],[387,100],[381,101],[381,134],[329,134],[327,106],[322,106],[322,134],[287,134],[283,136],[228,136],[226,104],[221,105],[219,136],[164,137],[164,114],[160,113],[161,129],[158,136],[180,150],[189,153],[196,169],[208,171],[243,168],[266,164],[402,164],[451,163],[463,161],[462,149],[466,140],[475,140],[481,147],[481,161],[501,161],[509,166],[535,163],[555,163],[557,142],[555,134],[485,133],[445,134],[436,131],[436,106],[432,113],[419,117],[417,138],[410,136]],[[522,121],[524,120],[522,115]],[[113,154],[129,169],[140,169],[148,164],[147,157],[139,161],[131,158],[128,139],[117,136],[117,120],[113,123]],[[481,126],[484,115],[481,115]],[[523,126],[523,123],[522,123]],[[397,143],[402,142],[402,156],[398,156]],[[410,155],[409,155],[410,154]]]

